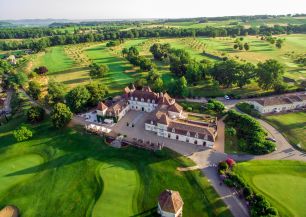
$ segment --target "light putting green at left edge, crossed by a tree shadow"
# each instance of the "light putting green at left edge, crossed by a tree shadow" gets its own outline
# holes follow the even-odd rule
[[[18,174],[19,171],[37,166],[43,162],[40,155],[29,154],[0,161],[0,195],[33,173]]]

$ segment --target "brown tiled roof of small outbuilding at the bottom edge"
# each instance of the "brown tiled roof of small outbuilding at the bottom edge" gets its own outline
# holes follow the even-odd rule
[[[163,211],[177,213],[183,207],[183,200],[178,191],[165,190],[158,198],[158,203]]]

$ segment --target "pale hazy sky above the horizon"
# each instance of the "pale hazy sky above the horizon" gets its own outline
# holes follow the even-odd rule
[[[306,13],[306,0],[0,0],[0,19],[138,19]]]

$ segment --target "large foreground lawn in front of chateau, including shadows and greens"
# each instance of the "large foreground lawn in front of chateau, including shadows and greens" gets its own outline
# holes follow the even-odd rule
[[[169,188],[181,193],[184,216],[231,216],[200,171],[176,170],[193,165],[185,157],[111,148],[49,121],[31,126],[32,139],[16,142],[12,130],[22,122],[0,127],[0,208],[16,205],[22,216],[152,216],[159,193]]]

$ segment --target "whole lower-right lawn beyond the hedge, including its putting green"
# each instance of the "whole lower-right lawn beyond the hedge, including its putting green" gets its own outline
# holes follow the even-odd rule
[[[305,216],[306,163],[251,161],[238,163],[235,172],[262,193],[280,216]]]

